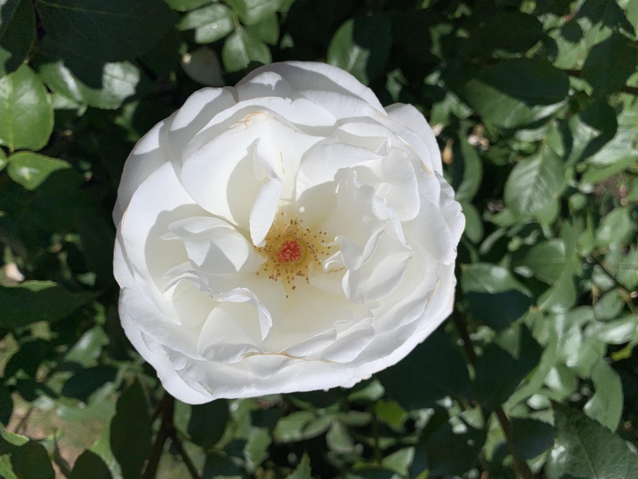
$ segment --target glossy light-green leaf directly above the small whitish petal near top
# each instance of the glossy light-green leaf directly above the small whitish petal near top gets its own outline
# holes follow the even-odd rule
[[[213,3],[189,11],[178,27],[182,31],[195,30],[195,43],[212,43],[232,32],[235,22],[230,8],[221,3]]]

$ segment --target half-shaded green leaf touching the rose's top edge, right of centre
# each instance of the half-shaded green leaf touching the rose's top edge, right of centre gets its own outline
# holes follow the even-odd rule
[[[357,17],[347,20],[334,34],[327,61],[367,85],[383,73],[391,44],[391,23],[387,15]]]

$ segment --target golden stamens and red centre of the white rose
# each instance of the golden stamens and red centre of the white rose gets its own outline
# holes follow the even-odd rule
[[[322,271],[322,261],[332,253],[326,242],[327,232],[312,231],[302,220],[286,220],[282,213],[272,223],[264,239],[265,245],[256,250],[266,258],[258,275],[281,281],[286,293],[295,289],[295,280],[309,282],[312,271]]]

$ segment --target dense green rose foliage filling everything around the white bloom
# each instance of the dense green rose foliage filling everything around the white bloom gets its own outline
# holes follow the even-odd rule
[[[637,0],[0,0],[0,476],[638,477]],[[326,61],[429,119],[456,308],[352,390],[163,394],[110,213],[202,86]]]

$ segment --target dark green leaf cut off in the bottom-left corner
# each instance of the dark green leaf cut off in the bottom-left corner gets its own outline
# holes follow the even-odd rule
[[[36,441],[0,425],[0,474],[17,479],[54,479],[47,450]]]

